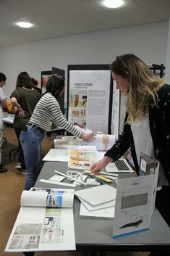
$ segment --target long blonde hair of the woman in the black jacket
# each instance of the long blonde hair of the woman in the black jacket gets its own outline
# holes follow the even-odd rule
[[[154,79],[145,62],[134,54],[117,56],[111,64],[111,71],[129,79],[127,123],[132,124],[140,114],[148,112],[150,99],[156,104],[157,91],[165,81]]]

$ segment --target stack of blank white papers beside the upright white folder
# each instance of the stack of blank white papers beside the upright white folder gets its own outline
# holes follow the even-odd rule
[[[102,185],[90,189],[75,191],[80,199],[80,216],[94,218],[114,218],[116,189]]]

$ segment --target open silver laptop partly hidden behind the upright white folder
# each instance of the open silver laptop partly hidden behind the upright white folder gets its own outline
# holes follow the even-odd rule
[[[135,170],[130,166],[129,160],[125,158],[110,162],[105,169],[107,173],[135,173]]]

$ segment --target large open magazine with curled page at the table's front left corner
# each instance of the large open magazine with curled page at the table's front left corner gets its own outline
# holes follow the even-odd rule
[[[74,189],[23,191],[5,252],[75,249]]]

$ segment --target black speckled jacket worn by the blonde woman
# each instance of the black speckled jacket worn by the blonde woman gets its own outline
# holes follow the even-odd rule
[[[116,161],[130,148],[135,169],[138,172],[139,165],[131,125],[127,124],[126,120],[127,115],[124,120],[122,134],[105,155]],[[158,90],[157,105],[154,104],[153,100],[150,100],[149,123],[156,160],[163,165],[166,178],[170,183],[170,85],[165,84]]]

